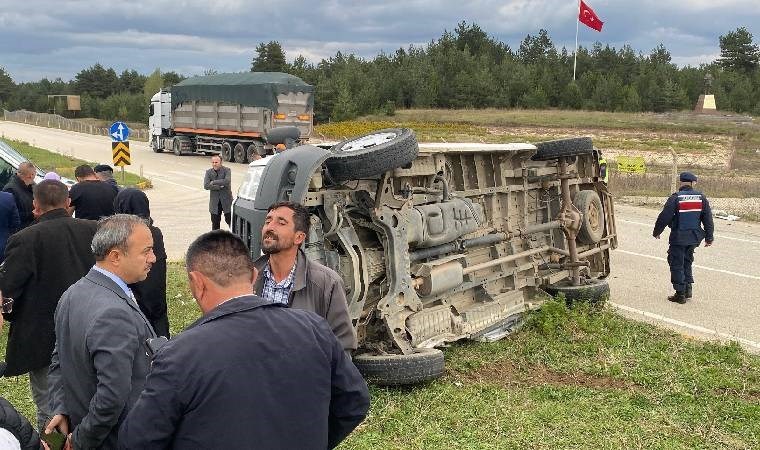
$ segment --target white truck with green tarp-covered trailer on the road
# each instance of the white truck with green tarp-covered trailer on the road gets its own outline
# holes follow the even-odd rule
[[[154,152],[220,155],[247,163],[273,152],[278,127],[305,142],[314,122],[314,87],[280,72],[224,73],[188,78],[150,101]],[[276,133],[276,132],[275,132]]]

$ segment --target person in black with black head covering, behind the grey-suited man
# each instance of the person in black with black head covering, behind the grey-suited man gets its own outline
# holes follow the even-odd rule
[[[150,203],[145,192],[126,188],[119,191],[114,201],[116,214],[134,214],[148,223],[153,235],[153,254],[156,262],[148,272],[148,278],[139,283],[130,284],[140,310],[148,318],[153,330],[159,336],[169,337],[169,317],[166,313],[166,249],[164,235],[158,227],[153,226],[150,217]]]

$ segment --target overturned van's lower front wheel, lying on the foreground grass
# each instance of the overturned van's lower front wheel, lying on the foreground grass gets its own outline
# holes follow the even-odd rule
[[[380,386],[416,384],[435,380],[443,375],[443,352],[422,348],[409,355],[376,355],[361,353],[354,364],[369,383]]]

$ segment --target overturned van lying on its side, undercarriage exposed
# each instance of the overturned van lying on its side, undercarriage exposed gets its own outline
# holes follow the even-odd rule
[[[356,366],[398,385],[443,373],[438,347],[494,341],[552,296],[600,305],[617,247],[591,138],[419,144],[387,129],[250,164],[233,232],[256,258],[268,207],[310,211],[304,251],[340,274]]]

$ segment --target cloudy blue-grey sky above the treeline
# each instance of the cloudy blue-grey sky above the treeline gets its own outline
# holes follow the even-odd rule
[[[580,25],[579,45],[663,44],[674,63],[697,66],[720,54],[718,37],[746,27],[760,42],[758,0],[587,0],[601,33]],[[424,46],[462,21],[519,47],[542,28],[575,46],[577,0],[0,0],[0,67],[15,82],[72,79],[100,63],[118,73],[156,68],[184,75],[250,69],[260,42],[278,41],[292,61],[344,54],[372,59]]]

